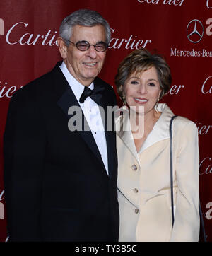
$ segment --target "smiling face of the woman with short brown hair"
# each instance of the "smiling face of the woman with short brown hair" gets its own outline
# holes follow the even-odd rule
[[[124,83],[126,103],[129,107],[135,107],[138,114],[153,112],[160,92],[158,74],[154,66],[141,73],[131,74]]]

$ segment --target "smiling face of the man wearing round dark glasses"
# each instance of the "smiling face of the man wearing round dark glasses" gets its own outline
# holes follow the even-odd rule
[[[78,41],[87,41],[90,45],[95,45],[97,42],[106,42],[105,28],[102,25],[93,27],[75,25],[70,41],[74,44]],[[72,76],[83,86],[90,86],[90,83],[93,82],[102,69],[106,51],[97,52],[93,46],[90,46],[86,51],[80,51],[76,46],[70,44],[69,47],[63,45],[61,55]]]

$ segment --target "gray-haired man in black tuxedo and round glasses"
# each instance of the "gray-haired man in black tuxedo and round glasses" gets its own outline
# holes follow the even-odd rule
[[[21,88],[8,110],[4,183],[10,240],[117,241],[115,133],[98,129],[113,121],[101,119],[101,107],[106,112],[116,105],[112,87],[97,77],[110,27],[99,13],[79,10],[62,21],[57,42],[63,62]],[[92,118],[99,126],[73,130],[70,107],[81,107],[83,127]],[[92,117],[93,107],[98,111]]]

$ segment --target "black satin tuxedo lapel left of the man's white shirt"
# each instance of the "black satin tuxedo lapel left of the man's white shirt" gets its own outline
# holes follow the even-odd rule
[[[55,71],[55,69],[57,70]],[[73,94],[73,91],[69,86],[69,83],[66,81],[64,74],[62,74],[61,70],[59,69],[59,66],[56,66],[55,69],[53,70],[55,71],[55,74],[57,74],[57,78],[55,80],[57,84],[55,87],[56,87],[57,93],[60,93],[59,100],[57,100],[57,105],[61,108],[61,110],[66,115],[67,126],[68,126],[68,122],[70,118],[73,117],[73,115],[69,115],[69,107],[76,106],[78,110],[81,110],[81,107],[78,104],[78,101],[76,100],[76,97]],[[61,88],[64,89],[63,92],[61,92],[62,91]],[[81,110],[81,113],[82,113],[81,115],[82,129],[77,129],[77,132],[81,135],[82,139],[86,142],[88,148],[93,152],[96,158],[98,158],[98,161],[100,161],[102,166],[105,168],[105,165],[102,161],[102,157],[100,156],[100,152],[98,150],[98,146],[95,143],[95,139],[93,138],[93,134],[89,129],[88,122],[86,121],[86,118],[84,117],[82,110]]]

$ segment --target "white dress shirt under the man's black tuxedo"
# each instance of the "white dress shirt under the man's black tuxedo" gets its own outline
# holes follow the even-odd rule
[[[64,62],[62,62],[60,69],[63,72],[66,80],[68,81],[69,86],[71,87],[71,90],[76,97],[76,100],[78,100],[78,104],[80,105],[81,110],[83,110],[83,114],[86,117],[86,121],[88,122],[90,131],[92,132],[95,143],[98,146],[98,150],[100,151],[100,155],[102,157],[102,161],[105,165],[105,169],[108,175],[107,143],[105,139],[105,129],[102,123],[99,106],[90,97],[86,98],[84,103],[80,103],[79,99],[84,91],[85,86],[79,83],[76,78],[71,75]],[[93,83],[91,83],[88,88],[93,90]]]

